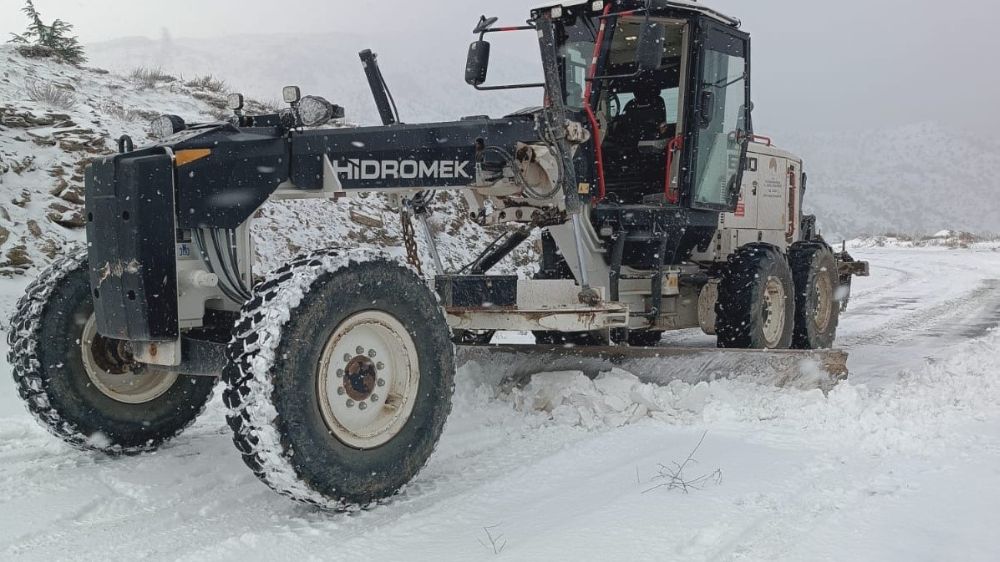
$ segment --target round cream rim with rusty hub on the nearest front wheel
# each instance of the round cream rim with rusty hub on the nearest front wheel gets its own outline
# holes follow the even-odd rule
[[[337,326],[318,374],[323,420],[337,439],[358,449],[379,447],[399,434],[420,385],[413,338],[378,311],[360,312]]]

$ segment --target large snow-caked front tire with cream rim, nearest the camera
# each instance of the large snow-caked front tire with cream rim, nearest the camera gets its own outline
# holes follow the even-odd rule
[[[244,306],[224,375],[244,462],[327,509],[398,493],[451,410],[450,338],[437,296],[382,254],[330,250],[278,270]]]

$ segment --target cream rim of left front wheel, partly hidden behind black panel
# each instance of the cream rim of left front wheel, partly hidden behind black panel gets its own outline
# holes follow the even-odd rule
[[[177,373],[145,373],[136,370],[123,342],[97,333],[97,316],[91,314],[80,336],[83,368],[102,394],[124,404],[146,404],[170,390]]]

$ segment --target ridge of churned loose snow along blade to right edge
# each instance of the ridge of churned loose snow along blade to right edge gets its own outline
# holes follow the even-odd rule
[[[796,428],[818,440],[853,443],[872,454],[921,452],[947,428],[1000,404],[1000,332],[965,344],[880,390],[841,384],[829,395],[719,380],[667,386],[642,383],[615,369],[590,380],[580,372],[535,375],[506,397],[519,411],[551,423],[587,429],[620,427],[653,418],[681,424],[756,424]]]

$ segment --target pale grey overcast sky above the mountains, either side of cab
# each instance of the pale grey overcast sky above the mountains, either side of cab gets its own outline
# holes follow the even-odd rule
[[[460,48],[481,13],[520,22],[535,0],[35,0],[85,42],[124,36],[395,33]],[[881,128],[918,121],[1000,128],[1000,53],[987,0],[715,0],[754,37],[757,123],[781,130]],[[25,22],[0,0],[0,32]],[[459,46],[459,47],[456,47]],[[414,61],[414,64],[419,61]]]

